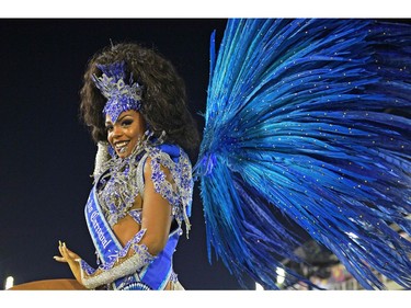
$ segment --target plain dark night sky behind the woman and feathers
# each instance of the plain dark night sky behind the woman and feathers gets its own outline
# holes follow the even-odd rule
[[[95,146],[78,117],[88,59],[102,47],[133,41],[169,58],[186,81],[190,109],[202,132],[209,36],[220,19],[0,20],[0,289],[71,278],[54,261],[58,240],[94,264],[83,207],[91,189]],[[196,184],[190,239],[181,238],[174,270],[187,289],[238,289],[237,280],[207,248]],[[250,282],[250,287],[253,283]]]

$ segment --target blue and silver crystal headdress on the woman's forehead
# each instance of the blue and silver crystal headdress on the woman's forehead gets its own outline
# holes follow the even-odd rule
[[[103,73],[101,77],[93,75],[92,79],[95,87],[107,99],[103,114],[110,115],[111,121],[114,123],[125,111],[139,111],[141,107],[141,85],[134,82],[133,75],[130,75],[128,84],[125,82],[125,62],[98,65],[96,67]]]

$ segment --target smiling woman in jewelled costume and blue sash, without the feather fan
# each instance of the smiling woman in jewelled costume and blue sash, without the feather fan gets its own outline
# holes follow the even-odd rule
[[[65,242],[67,262],[89,289],[183,289],[172,256],[190,230],[192,169],[185,150],[198,136],[173,66],[152,49],[118,44],[90,61],[81,112],[99,144],[87,224],[100,265]]]

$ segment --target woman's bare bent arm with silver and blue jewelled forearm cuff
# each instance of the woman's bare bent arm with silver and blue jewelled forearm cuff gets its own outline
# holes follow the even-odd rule
[[[163,167],[161,167],[161,171],[164,175],[163,180],[172,185],[170,172]],[[156,190],[156,183],[151,175],[152,170],[150,159],[148,159],[145,167],[141,228],[136,232],[136,223],[133,219],[124,219],[113,228],[118,240],[126,243],[113,262],[94,270],[80,258],[76,258],[77,254],[69,252],[65,246],[61,247],[61,255],[69,263],[78,281],[78,273],[80,273],[79,282],[85,287],[95,288],[135,273],[152,262],[165,247],[172,221],[172,209],[169,201],[157,192],[158,189]],[[73,258],[70,256],[70,253]]]

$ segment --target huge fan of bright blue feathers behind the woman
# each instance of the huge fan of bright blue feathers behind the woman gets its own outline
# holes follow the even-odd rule
[[[384,288],[375,271],[410,288],[392,226],[411,235],[411,27],[229,20],[218,53],[214,35],[195,166],[209,260],[278,288],[278,267],[304,281],[282,261],[309,235],[365,288]]]

